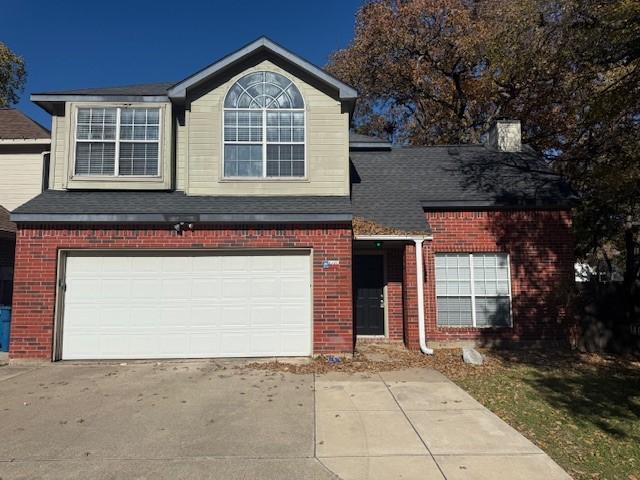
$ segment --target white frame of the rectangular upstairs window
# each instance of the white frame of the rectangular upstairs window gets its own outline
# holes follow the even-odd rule
[[[93,140],[93,139],[86,139],[86,138],[78,138],[78,115],[80,112],[80,109],[97,109],[97,108],[103,108],[103,109],[110,109],[110,108],[115,108],[116,109],[116,137],[113,140]],[[122,114],[122,110],[123,109],[148,109],[148,110],[158,110],[158,139],[155,141],[150,141],[150,140],[121,140],[120,139],[120,116]],[[74,133],[73,133],[73,139],[74,139],[74,143],[73,143],[73,172],[72,172],[72,178],[75,179],[90,179],[90,178],[124,178],[124,179],[128,179],[128,178],[132,178],[132,179],[136,179],[136,178],[159,178],[160,177],[160,169],[161,169],[161,165],[162,165],[162,115],[163,115],[163,109],[161,107],[147,107],[147,106],[116,106],[116,105],[80,105],[77,106],[75,108],[75,122],[74,122]],[[113,165],[113,175],[108,175],[108,174],[96,174],[96,175],[92,175],[92,174],[88,174],[88,175],[82,175],[82,174],[78,174],[76,173],[76,162],[77,162],[77,155],[78,155],[78,149],[77,149],[77,144],[78,143],[114,143],[115,142],[115,159],[114,159],[114,165]],[[154,143],[157,142],[158,143],[158,168],[155,174],[153,175],[120,175],[120,142],[123,143]]]

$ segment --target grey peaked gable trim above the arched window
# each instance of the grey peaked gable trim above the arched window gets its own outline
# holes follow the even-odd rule
[[[203,68],[199,72],[196,72],[193,75],[188,76],[184,80],[176,83],[169,89],[169,97],[177,100],[184,99],[186,97],[187,90],[189,90],[190,88],[196,87],[197,85],[209,80],[210,78],[228,70],[234,65],[239,64],[250,56],[253,56],[260,52],[268,52],[290,64],[293,64],[316,80],[319,80],[320,82],[334,88],[335,90],[337,90],[340,100],[354,101],[358,97],[358,92],[356,92],[353,87],[347,85],[344,82],[341,82],[321,68],[316,67],[311,62],[308,62],[304,58],[299,57],[298,55],[290,52],[286,48],[278,45],[274,41],[264,36],[245,45],[239,50],[236,50],[235,52],[222,57],[220,60],[217,60],[216,62]]]

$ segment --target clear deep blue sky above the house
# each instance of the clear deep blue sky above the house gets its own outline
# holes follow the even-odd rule
[[[322,67],[361,3],[4,0],[0,41],[27,64],[18,108],[50,128],[31,93],[177,81],[261,35]]]

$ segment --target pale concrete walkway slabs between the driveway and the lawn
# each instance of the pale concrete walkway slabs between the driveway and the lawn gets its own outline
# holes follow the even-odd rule
[[[315,377],[316,456],[343,480],[566,480],[434,370]]]

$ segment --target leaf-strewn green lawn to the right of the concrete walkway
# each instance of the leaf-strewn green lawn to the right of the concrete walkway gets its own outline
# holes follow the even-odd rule
[[[640,363],[573,354],[488,353],[453,379],[575,479],[640,480]]]

